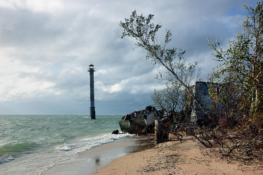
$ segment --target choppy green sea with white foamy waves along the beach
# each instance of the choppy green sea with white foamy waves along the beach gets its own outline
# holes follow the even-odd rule
[[[0,174],[41,174],[80,152],[130,134],[121,115],[0,115]]]

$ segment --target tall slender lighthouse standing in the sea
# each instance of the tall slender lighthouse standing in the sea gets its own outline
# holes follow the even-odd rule
[[[94,105],[94,72],[93,64],[89,65],[88,72],[90,72],[90,119],[96,119],[95,105]]]

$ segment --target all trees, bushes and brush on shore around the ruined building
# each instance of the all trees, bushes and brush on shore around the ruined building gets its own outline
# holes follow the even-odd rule
[[[181,138],[186,132],[200,141],[203,154],[228,161],[263,161],[263,1],[255,9],[247,9],[248,16],[242,20],[244,32],[236,40],[229,40],[229,48],[223,50],[219,40],[211,42],[217,67],[207,81],[220,86],[213,98],[213,112],[208,112],[202,96],[190,86],[200,81],[197,62],[187,64],[185,50],[168,47],[172,33],[166,30],[164,41],[157,40],[161,24],[153,24],[154,15],[148,17],[133,11],[130,18],[120,22],[123,37],[135,38],[135,45],[147,51],[146,59],[152,64],[161,64],[165,73],[159,72],[157,79],[166,82],[166,88],[155,90],[152,101],[167,117],[166,132]],[[194,105],[193,105],[194,104]],[[193,114],[193,106],[205,113]]]

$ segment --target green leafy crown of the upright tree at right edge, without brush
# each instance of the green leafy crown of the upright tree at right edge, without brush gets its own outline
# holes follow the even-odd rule
[[[241,96],[246,96],[251,112],[263,110],[263,9],[257,3],[255,9],[247,9],[249,16],[243,21],[243,33],[236,34],[236,40],[229,40],[229,48],[223,50],[219,40],[209,47],[214,60],[221,62],[212,74],[212,78],[221,84],[235,84]],[[245,107],[245,106],[244,106]]]

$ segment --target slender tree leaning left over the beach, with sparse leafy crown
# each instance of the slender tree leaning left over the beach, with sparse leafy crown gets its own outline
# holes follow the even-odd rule
[[[152,60],[154,65],[161,64],[166,68],[166,74],[163,75],[159,72],[157,78],[183,86],[202,108],[202,105],[189,88],[190,83],[195,78],[198,78],[200,74],[200,69],[197,71],[197,62],[186,64],[186,59],[183,57],[185,50],[176,47],[168,47],[169,42],[172,40],[172,33],[170,30],[166,29],[164,41],[158,42],[157,32],[162,25],[155,25],[152,23],[151,20],[153,18],[154,15],[152,14],[145,17],[142,14],[137,15],[137,12],[133,11],[130,18],[125,18],[125,22],[120,22],[120,26],[123,28],[121,38],[135,38],[135,45],[147,51],[146,59]]]

